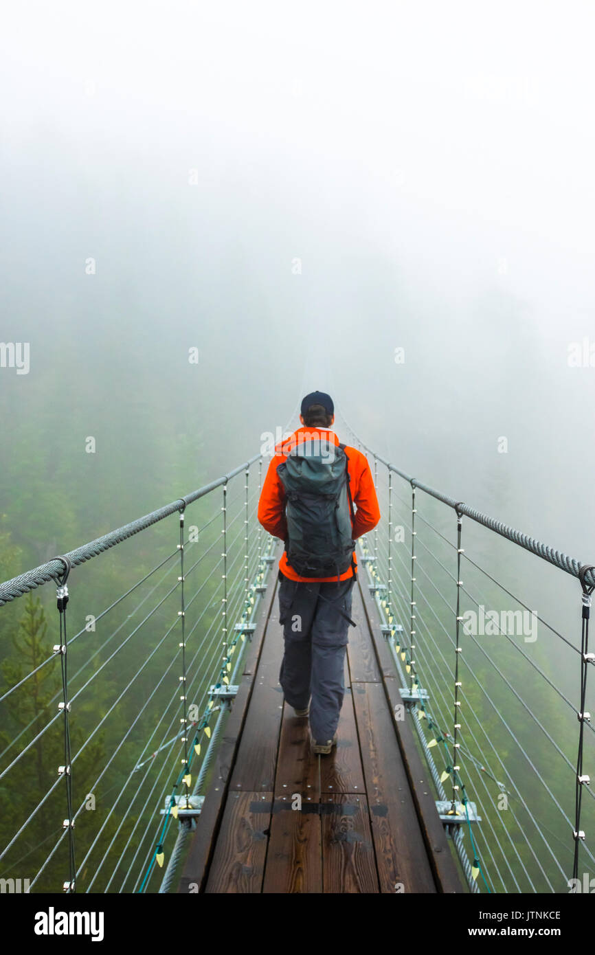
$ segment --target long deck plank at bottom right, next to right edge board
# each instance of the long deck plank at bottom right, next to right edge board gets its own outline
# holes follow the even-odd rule
[[[384,687],[381,683],[355,684],[353,703],[380,891],[436,892]]]

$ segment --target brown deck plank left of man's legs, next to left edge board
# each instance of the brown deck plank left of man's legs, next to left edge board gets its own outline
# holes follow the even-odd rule
[[[279,624],[277,601],[273,598],[250,707],[244,722],[242,746],[237,753],[229,783],[231,791],[269,792],[274,788],[283,712],[283,690],[279,683],[283,648],[283,628]]]

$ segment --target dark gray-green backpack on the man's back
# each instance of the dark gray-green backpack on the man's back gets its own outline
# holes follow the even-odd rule
[[[334,577],[353,568],[349,457],[326,438],[293,448],[277,474],[287,496],[287,562],[300,577]]]

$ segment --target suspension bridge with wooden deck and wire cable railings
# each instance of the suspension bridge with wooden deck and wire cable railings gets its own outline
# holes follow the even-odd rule
[[[382,520],[357,541],[336,750],[311,753],[278,680],[263,452],[0,584],[28,647],[0,694],[4,890],[589,891],[595,568],[337,430]],[[499,581],[511,555],[575,601],[563,627]]]

